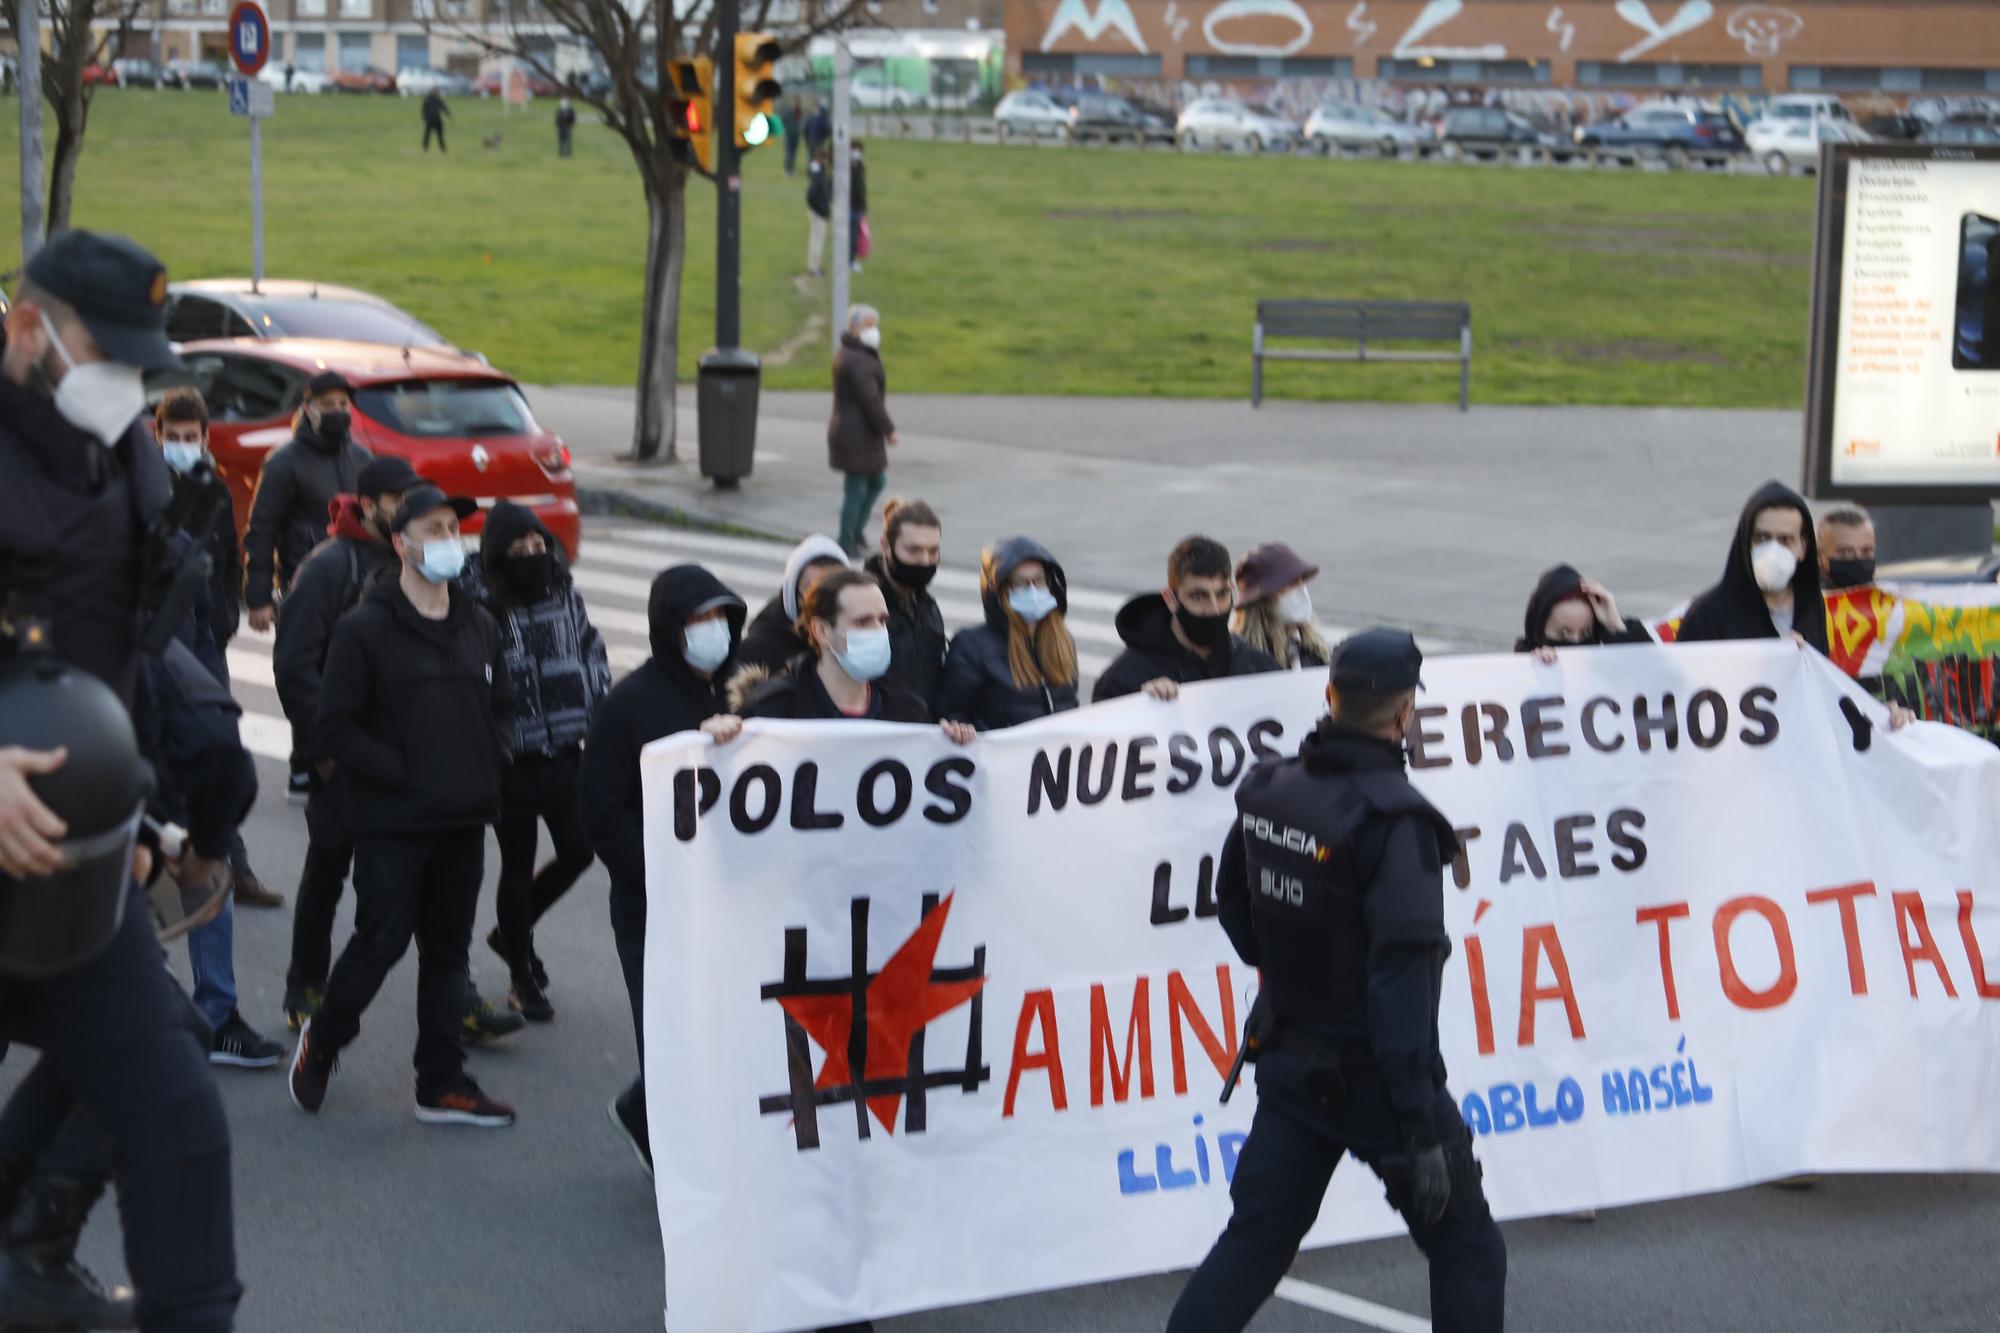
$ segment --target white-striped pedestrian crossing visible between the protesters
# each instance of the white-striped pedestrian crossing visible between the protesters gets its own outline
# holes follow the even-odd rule
[[[750,614],[756,614],[784,582],[784,560],[790,550],[778,542],[720,532],[586,520],[582,556],[570,572],[584,594],[584,604],[590,606],[592,624],[604,636],[612,675],[622,677],[652,656],[646,596],[654,574],[670,564],[704,564],[744,598]],[[938,598],[948,630],[956,632],[984,620],[974,566],[946,562],[930,592]],[[1076,636],[1076,660],[1084,675],[1086,697],[1090,683],[1122,648],[1114,618],[1128,596],[1130,592],[1070,586],[1068,624]],[[1340,630],[1328,626],[1326,632],[1332,638]],[[244,707],[244,747],[264,759],[284,761],[292,751],[292,729],[278,707],[270,652],[272,634],[256,634],[244,626],[228,650],[230,683]]]

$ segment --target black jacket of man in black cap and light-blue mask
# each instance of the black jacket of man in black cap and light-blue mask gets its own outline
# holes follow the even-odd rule
[[[442,620],[398,578],[378,578],[342,616],[320,683],[320,749],[354,833],[432,833],[500,817],[514,693],[500,626],[464,588]]]

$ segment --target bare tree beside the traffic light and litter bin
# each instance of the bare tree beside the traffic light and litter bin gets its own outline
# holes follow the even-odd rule
[[[496,0],[486,4],[492,16]],[[770,22],[772,0],[750,0],[746,8],[746,30],[760,30]],[[860,0],[808,0],[808,20],[786,46],[804,48],[816,34],[846,24],[856,8]],[[680,278],[688,258],[688,176],[696,168],[680,158],[680,144],[668,134],[666,102],[656,90],[668,84],[666,62],[674,56],[734,58],[714,50],[714,4],[698,0],[690,12],[676,14],[672,0],[514,0],[506,4],[498,24],[492,18],[480,26],[432,14],[424,26],[470,42],[490,56],[516,60],[570,98],[596,108],[604,124],[626,142],[646,192],[646,312],[630,458],[674,462]],[[588,50],[606,78],[558,72],[548,28],[560,30],[564,44]]]

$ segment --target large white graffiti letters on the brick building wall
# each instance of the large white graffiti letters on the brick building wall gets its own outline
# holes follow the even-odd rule
[[[1182,8],[1180,0],[1166,6],[1166,32],[1174,46],[1180,46],[1194,26],[1196,6]],[[1612,6],[1638,40],[1618,52],[1620,64],[1630,64],[1656,52],[1658,48],[1706,28],[1716,20],[1714,0],[1618,0]],[[1242,20],[1278,20],[1290,28],[1284,40],[1232,38],[1228,26]],[[1382,24],[1370,10],[1370,0],[1358,0],[1346,14],[1346,30],[1352,34],[1352,48],[1366,48]],[[1224,56],[1284,58],[1304,50],[1316,36],[1312,16],[1298,0],[1220,0],[1200,12],[1202,38],[1208,50]],[[1556,4],[1548,10],[1544,28],[1556,38],[1560,50],[1568,52],[1576,40],[1576,22]],[[1746,56],[1776,56],[1786,42],[1804,32],[1806,20],[1774,4],[1740,4],[1724,20],[1724,30],[1744,46]],[[1124,38],[1134,52],[1148,54],[1146,38],[1130,0],[1060,0],[1048,26],[1042,32],[1042,50],[1052,50],[1068,34],[1078,34],[1084,42],[1104,40],[1106,34]],[[1504,42],[1478,40],[1478,16],[1466,14],[1466,0],[1426,0],[1416,18],[1396,36],[1392,56],[1396,60],[1506,60]]]

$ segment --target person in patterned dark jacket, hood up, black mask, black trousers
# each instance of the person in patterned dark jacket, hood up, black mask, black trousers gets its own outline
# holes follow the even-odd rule
[[[514,685],[514,735],[500,789],[500,925],[486,937],[514,981],[508,1003],[532,1023],[556,1017],[548,973],[534,953],[534,925],[590,869],[576,807],[576,773],[590,713],[612,689],[604,638],[584,596],[556,560],[556,534],[534,510],[502,500],[486,514],[480,564],[486,608],[500,622]],[[554,859],[534,869],[538,825]]]

